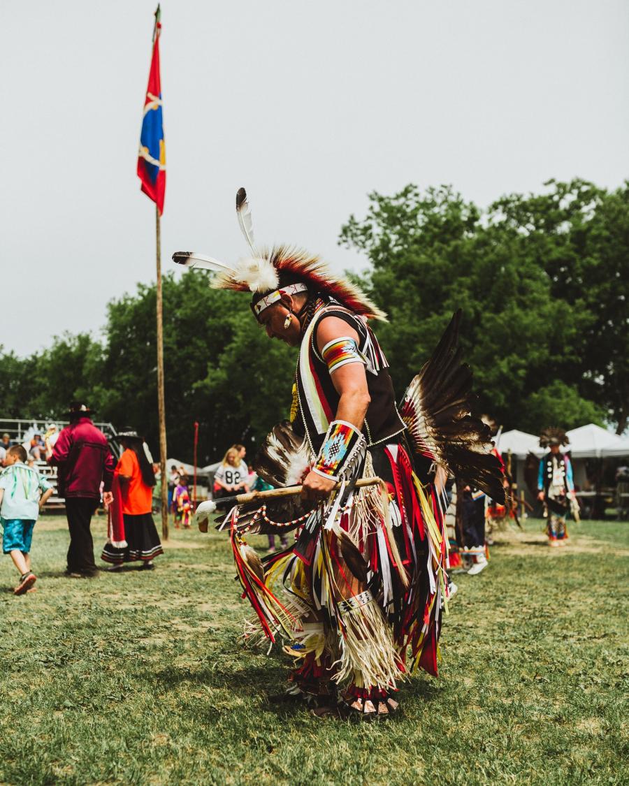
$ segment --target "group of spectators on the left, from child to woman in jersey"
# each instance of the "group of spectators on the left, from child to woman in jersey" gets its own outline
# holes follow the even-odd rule
[[[91,521],[100,505],[108,515],[107,540],[101,560],[108,571],[120,571],[124,564],[139,562],[144,570],[164,553],[153,522],[160,510],[161,478],[142,435],[124,428],[116,435],[122,453],[116,461],[108,439],[83,402],[72,402],[69,424],[57,433],[51,425],[43,435],[32,433],[17,443],[8,433],[0,439],[0,524],[2,552],[10,556],[20,575],[16,595],[35,591],[37,575],[31,569],[31,543],[35,523],[43,506],[54,493],[50,479],[39,471],[46,462],[57,468],[57,497],[64,500],[70,542],[65,575],[68,578],[96,578],[100,568],[94,558]],[[268,484],[250,472],[244,445],[234,444],[216,468],[212,485],[215,498],[266,489]],[[175,528],[192,524],[195,491],[182,465],[171,464],[167,475],[168,512]],[[286,544],[282,538],[281,545]],[[269,537],[274,550],[274,538]]]

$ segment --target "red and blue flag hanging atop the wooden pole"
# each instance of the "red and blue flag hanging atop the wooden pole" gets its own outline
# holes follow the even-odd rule
[[[162,88],[160,80],[160,6],[155,12],[153,57],[146,88],[140,150],[138,152],[138,178],[142,191],[164,212],[166,193],[166,147],[164,145],[164,117],[162,116]]]

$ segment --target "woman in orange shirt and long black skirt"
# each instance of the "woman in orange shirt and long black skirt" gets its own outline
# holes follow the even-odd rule
[[[115,568],[123,562],[141,560],[142,567],[153,570],[153,559],[164,553],[153,522],[153,465],[145,451],[144,439],[132,429],[118,434],[123,454],[114,471],[114,484],[119,485],[118,499],[122,505],[125,548],[116,548],[111,542],[105,544],[101,559]],[[114,501],[116,504],[116,501]]]

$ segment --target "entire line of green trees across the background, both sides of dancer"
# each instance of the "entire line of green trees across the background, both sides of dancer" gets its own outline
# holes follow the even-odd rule
[[[629,182],[576,179],[486,210],[447,186],[370,194],[340,243],[369,261],[355,276],[389,315],[377,325],[395,388],[421,368],[454,310],[478,405],[504,428],[538,432],[629,418]],[[0,417],[59,418],[85,399],[97,419],[157,446],[155,285],[109,303],[101,340],[65,334],[27,358],[0,348]],[[255,446],[287,417],[296,351],[268,340],[247,298],[205,274],[164,279],[168,454],[200,463]]]

